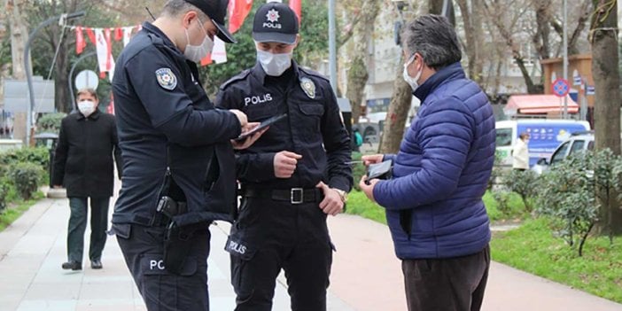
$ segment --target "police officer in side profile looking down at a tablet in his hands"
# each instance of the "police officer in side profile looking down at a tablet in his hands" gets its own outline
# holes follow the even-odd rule
[[[232,142],[256,124],[240,111],[214,109],[199,81],[196,62],[212,50],[214,36],[234,42],[223,26],[227,5],[168,0],[116,65],[125,161],[112,231],[150,311],[209,309],[207,227],[230,221],[236,207],[232,144],[245,148],[260,135]]]

